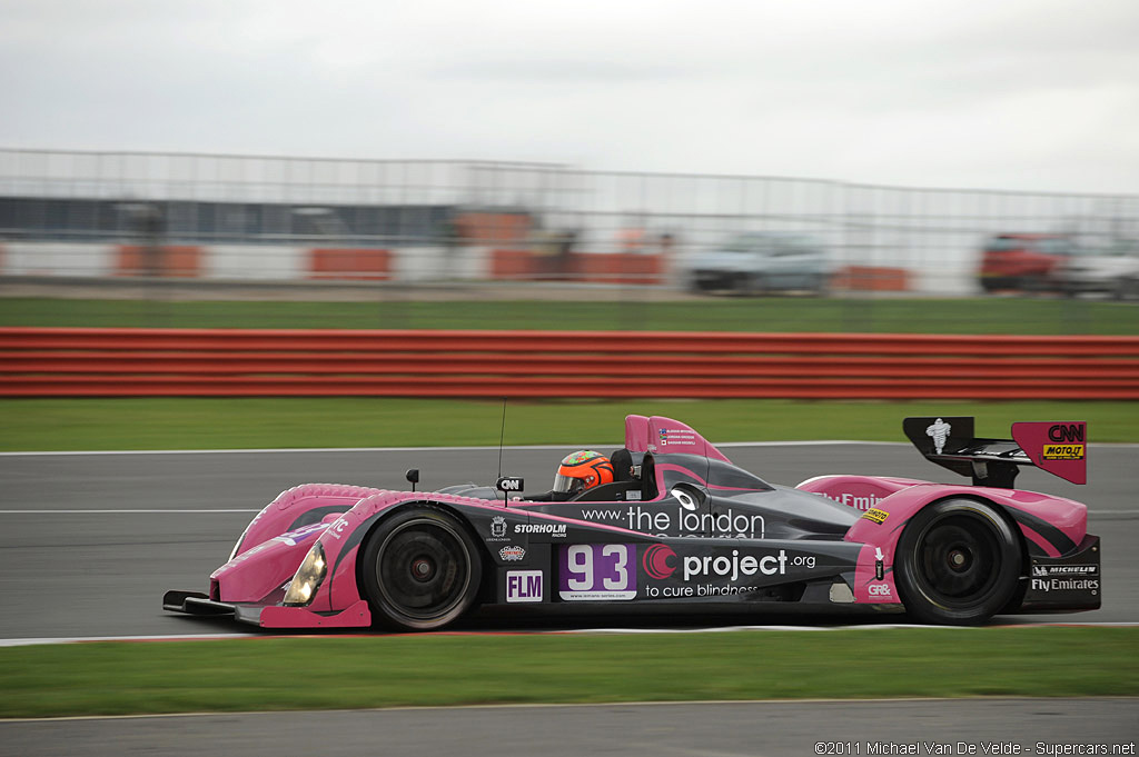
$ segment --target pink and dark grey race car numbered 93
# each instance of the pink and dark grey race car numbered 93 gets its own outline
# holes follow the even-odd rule
[[[416,470],[411,491],[306,484],[253,518],[208,592],[171,591],[163,607],[265,628],[396,631],[444,628],[476,607],[853,609],[948,625],[1099,608],[1087,508],[1013,488],[1031,464],[1084,483],[1084,422],[1018,422],[1011,441],[976,438],[965,417],[908,418],[903,430],[972,483],[777,486],[682,422],[628,415],[624,446],[598,468],[612,476],[562,496],[527,499],[511,477],[416,492]],[[567,461],[590,455],[601,456]]]

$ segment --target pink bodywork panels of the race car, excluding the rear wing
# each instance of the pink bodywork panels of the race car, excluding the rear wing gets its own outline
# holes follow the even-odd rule
[[[625,418],[625,447],[631,452],[686,453],[730,462],[690,427],[679,421],[644,415]],[[658,479],[664,467],[658,466]],[[690,472],[690,471],[689,471]],[[661,482],[658,480],[658,484]],[[1010,510],[1031,513],[1079,544],[1087,534],[1087,508],[1072,500],[1005,488],[932,484],[885,476],[820,476],[797,487],[821,494],[876,519],[863,516],[844,540],[863,544],[855,568],[854,601],[869,604],[900,603],[893,561],[902,527],[924,507],[949,496],[984,497]],[[248,525],[232,560],[211,575],[211,599],[229,603],[265,604],[261,625],[276,628],[363,627],[371,624],[368,602],[357,584],[357,558],[369,520],[393,507],[431,502],[462,504],[501,511],[503,503],[466,496],[394,492],[338,484],[306,484],[282,492]],[[526,502],[511,508],[526,509]],[[327,510],[319,521],[292,528],[314,509]],[[533,518],[549,518],[531,513]],[[316,518],[316,516],[313,517]],[[559,519],[564,520],[564,519]],[[880,520],[880,523],[878,523]],[[589,524],[595,528],[621,528]],[[1019,524],[1024,537],[1050,557],[1058,554],[1043,536]],[[321,544],[329,566],[308,607],[278,604],[314,543]],[[255,559],[253,559],[255,558]],[[876,577],[878,563],[884,576]]]

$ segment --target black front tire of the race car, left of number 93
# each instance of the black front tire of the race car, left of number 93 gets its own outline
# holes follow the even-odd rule
[[[363,548],[360,573],[377,625],[434,631],[474,604],[482,561],[458,520],[423,505],[376,528]]]

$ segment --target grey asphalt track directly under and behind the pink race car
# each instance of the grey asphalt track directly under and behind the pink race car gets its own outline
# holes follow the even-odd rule
[[[615,444],[596,445],[611,450]],[[572,447],[503,452],[503,472],[544,491]],[[952,482],[953,475],[904,444],[724,445],[737,464],[778,484],[820,474],[892,474]],[[995,623],[1139,623],[1139,504],[1134,445],[1092,445],[1089,480],[1075,486],[1039,470],[1017,484],[1085,502],[1090,529],[1103,537],[1104,607],[1058,616],[1009,616]],[[491,483],[498,449],[265,451],[202,453],[0,455],[0,574],[5,610],[0,643],[17,639],[153,636],[252,631],[163,612],[167,589],[205,589],[253,513],[284,488],[309,482],[404,488],[403,472],[421,470],[420,487]],[[899,616],[862,622],[896,623]],[[853,618],[844,617],[842,623]],[[511,627],[683,627],[762,623],[835,623],[833,618],[743,616],[675,619],[568,618]],[[472,626],[501,627],[490,620]]]

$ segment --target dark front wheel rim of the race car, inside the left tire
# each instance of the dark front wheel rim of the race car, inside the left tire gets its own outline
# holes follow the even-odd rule
[[[439,618],[462,602],[470,583],[470,554],[446,524],[419,519],[387,535],[376,560],[385,602],[410,618]]]

